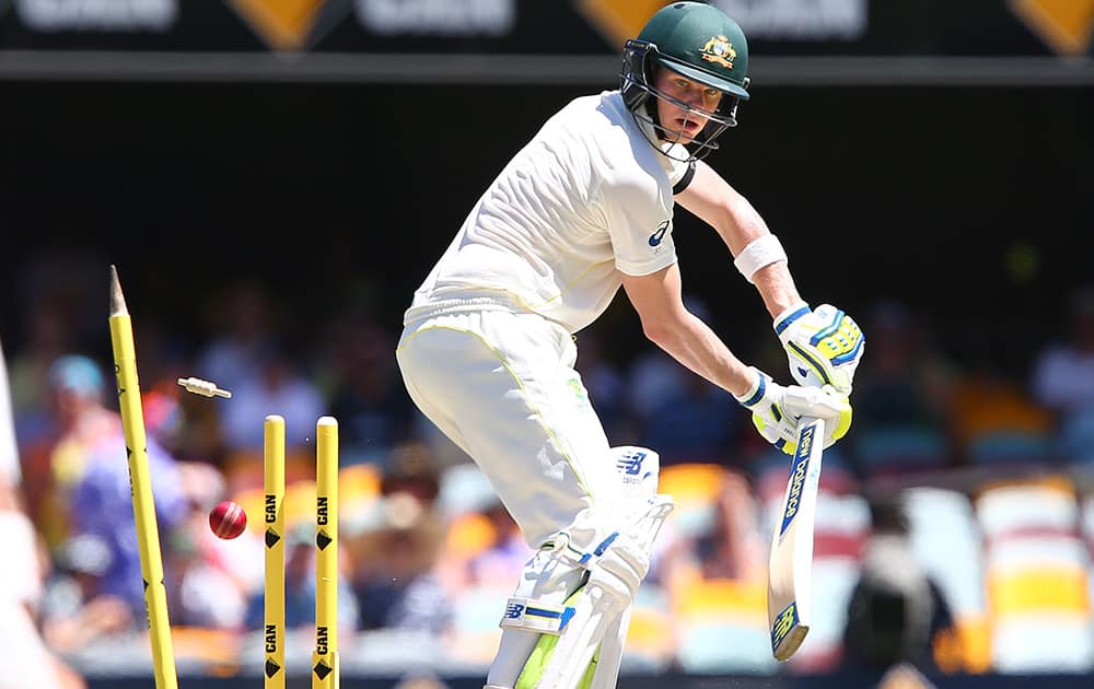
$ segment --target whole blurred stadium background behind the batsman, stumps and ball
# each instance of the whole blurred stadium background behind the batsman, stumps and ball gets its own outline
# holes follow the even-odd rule
[[[261,681],[261,422],[280,413],[288,670],[306,686],[312,439],[331,413],[344,686],[481,686],[529,551],[407,398],[403,310],[509,156],[615,87],[663,4],[0,0],[0,687],[151,686],[112,264],[181,685]],[[753,100],[708,162],[866,353],[824,458],[814,627],[778,664],[785,458],[625,297],[578,334],[610,440],[657,449],[678,503],[620,686],[1089,686],[1094,0],[713,4],[749,38]],[[683,210],[675,232],[693,310],[787,378],[724,245]],[[189,375],[234,396],[181,394]],[[251,516],[231,541],[208,528],[223,499]]]

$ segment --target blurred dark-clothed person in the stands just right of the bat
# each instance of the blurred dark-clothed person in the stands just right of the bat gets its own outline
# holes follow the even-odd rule
[[[900,664],[936,672],[933,641],[953,630],[950,605],[916,559],[899,502],[874,500],[871,522],[862,570],[848,604],[843,664],[875,679]]]

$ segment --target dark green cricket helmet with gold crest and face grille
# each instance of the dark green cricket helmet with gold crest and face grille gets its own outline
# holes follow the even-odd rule
[[[702,110],[657,91],[654,77],[659,68],[718,89],[723,93],[718,107]],[[627,42],[619,90],[627,107],[653,125],[661,138],[689,140],[685,145],[691,157],[702,157],[718,148],[717,137],[736,126],[737,106],[748,100],[747,71],[748,43],[735,21],[702,2],[674,2],[659,10],[638,37]],[[707,126],[694,139],[662,127],[656,98],[706,117]]]

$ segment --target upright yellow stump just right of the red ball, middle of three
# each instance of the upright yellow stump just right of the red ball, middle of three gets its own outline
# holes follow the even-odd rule
[[[263,634],[267,689],[284,689],[284,419],[266,417],[266,619]]]

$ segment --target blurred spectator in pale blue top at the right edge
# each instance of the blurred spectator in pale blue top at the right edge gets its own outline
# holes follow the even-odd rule
[[[1094,285],[1072,295],[1067,335],[1037,357],[1033,392],[1056,416],[1064,457],[1094,462]]]

